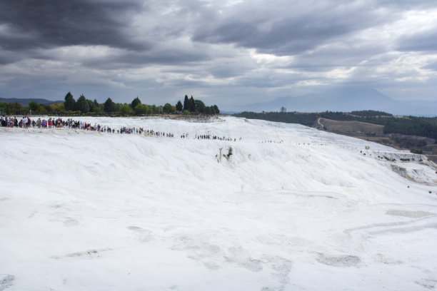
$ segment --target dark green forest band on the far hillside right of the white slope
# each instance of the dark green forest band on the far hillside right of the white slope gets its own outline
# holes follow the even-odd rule
[[[353,113],[326,111],[321,113],[298,112],[241,112],[234,116],[249,119],[262,119],[283,123],[298,123],[303,126],[313,126],[317,118],[327,118],[334,121],[361,121],[384,126],[384,133],[400,133],[405,135],[434,138],[437,143],[437,117],[403,116],[394,117],[381,111],[353,111]]]

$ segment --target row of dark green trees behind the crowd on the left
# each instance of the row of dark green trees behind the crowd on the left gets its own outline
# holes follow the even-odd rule
[[[19,103],[0,102],[0,111],[6,115],[28,115],[28,114],[56,114],[56,115],[82,115],[82,114],[104,114],[110,116],[144,116],[151,114],[218,114],[218,106],[206,106],[201,100],[194,99],[193,96],[185,96],[184,104],[178,101],[175,106],[170,103],[164,106],[147,105],[141,103],[136,97],[131,103],[115,103],[111,98],[104,103],[99,103],[96,99],[91,101],[84,94],[81,94],[77,101],[71,92],[66,93],[64,103],[44,105],[36,101],[29,102],[24,107]]]

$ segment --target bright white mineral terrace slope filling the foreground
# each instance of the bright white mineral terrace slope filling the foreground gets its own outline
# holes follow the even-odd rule
[[[437,285],[437,174],[418,156],[242,118],[87,121],[189,138],[0,129],[0,290]]]

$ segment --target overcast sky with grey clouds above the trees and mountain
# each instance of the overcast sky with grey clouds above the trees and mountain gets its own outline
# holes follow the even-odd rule
[[[0,97],[437,101],[437,1],[0,1]]]

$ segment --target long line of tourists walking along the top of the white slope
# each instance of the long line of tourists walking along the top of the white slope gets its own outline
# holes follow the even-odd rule
[[[49,118],[49,119],[41,119],[32,120],[29,116],[23,116],[23,118],[8,117],[1,116],[0,118],[0,126],[6,128],[73,128],[73,129],[82,129],[86,131],[97,131],[101,133],[136,133],[144,136],[156,136],[156,137],[167,137],[173,138],[174,133],[164,132],[164,131],[154,131],[151,129],[144,128],[136,128],[136,127],[121,127],[118,129],[111,128],[109,126],[101,126],[100,124],[94,123],[86,123],[83,121],[74,121],[72,118],[68,118],[66,120],[58,117],[58,118]],[[183,133],[181,138],[188,138],[189,133]],[[236,138],[226,138],[219,136],[211,136],[210,134],[206,135],[196,135],[194,136],[196,139],[211,139],[211,140],[219,140],[219,141],[236,141]],[[241,140],[241,138],[240,138]]]

